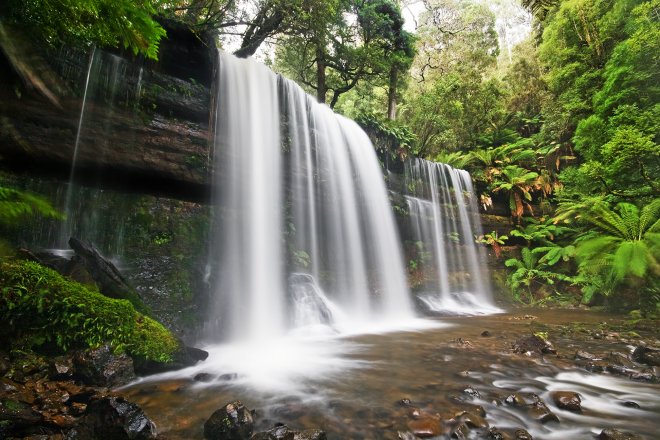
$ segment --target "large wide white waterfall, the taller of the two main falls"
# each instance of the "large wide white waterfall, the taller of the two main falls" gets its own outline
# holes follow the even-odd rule
[[[223,53],[216,105],[207,336],[413,317],[382,171],[357,124]]]

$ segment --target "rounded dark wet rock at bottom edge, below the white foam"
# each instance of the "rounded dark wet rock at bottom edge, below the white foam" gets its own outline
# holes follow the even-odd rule
[[[208,440],[245,440],[254,429],[250,411],[240,402],[230,402],[211,414],[204,423],[204,438]]]

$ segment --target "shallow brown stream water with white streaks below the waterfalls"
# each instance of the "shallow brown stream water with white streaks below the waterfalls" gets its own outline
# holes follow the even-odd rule
[[[195,381],[204,372],[202,364],[174,378],[147,379],[123,393],[144,408],[168,439],[202,439],[204,421],[236,399],[256,410],[257,430],[281,422],[294,429],[321,428],[331,439],[396,439],[409,431],[415,408],[448,426],[447,420],[476,405],[483,407],[491,427],[524,428],[535,439],[589,439],[607,427],[659,438],[660,385],[589,373],[571,360],[578,349],[629,354],[636,340],[599,334],[601,324],[614,319],[566,310],[446,317],[439,319],[448,325],[441,328],[343,338],[343,351],[327,359],[341,357],[343,368],[291,377],[293,385],[284,389],[243,381],[241,371],[218,375],[214,370],[204,378],[210,382]],[[585,323],[591,335],[576,331],[577,322]],[[482,336],[484,331],[490,336]],[[546,332],[558,355],[514,354],[513,341],[530,332]],[[657,329],[639,334],[658,343]],[[267,367],[269,356],[255,362]],[[468,388],[473,391],[466,393]],[[557,408],[550,397],[557,390],[579,393],[582,411]],[[559,422],[543,424],[503,403],[515,392],[540,396]],[[410,404],[402,405],[402,399]],[[485,430],[467,433],[467,438],[485,436]]]

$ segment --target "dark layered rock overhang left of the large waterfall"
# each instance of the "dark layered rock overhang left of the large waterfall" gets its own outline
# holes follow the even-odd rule
[[[3,41],[0,164],[66,178],[75,155],[79,181],[206,200],[215,50],[182,29],[169,35],[157,64]]]

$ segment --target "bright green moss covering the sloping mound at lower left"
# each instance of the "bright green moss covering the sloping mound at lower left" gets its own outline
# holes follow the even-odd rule
[[[176,338],[124,299],[112,299],[33,262],[0,264],[0,341],[26,349],[98,347],[167,362]]]

